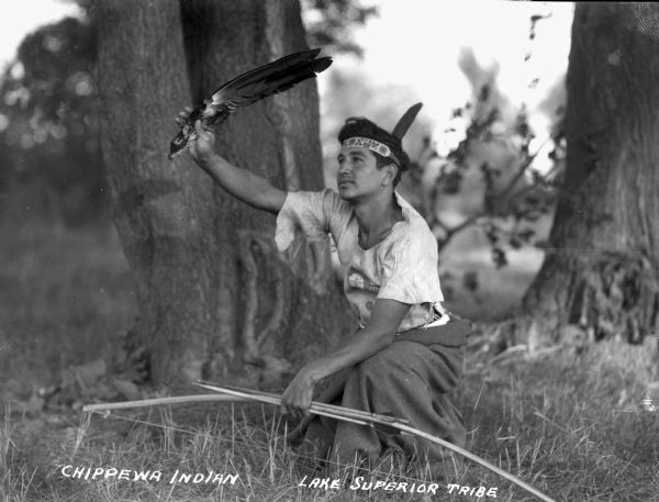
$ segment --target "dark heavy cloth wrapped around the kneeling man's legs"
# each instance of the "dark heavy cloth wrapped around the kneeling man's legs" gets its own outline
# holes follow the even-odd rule
[[[454,336],[447,335],[451,328]],[[455,324],[415,332],[420,336],[410,334],[405,339],[403,334],[378,354],[330,377],[316,401],[403,419],[415,428],[465,447],[462,416],[449,394],[462,376],[468,330],[461,336]],[[438,339],[442,343],[436,343]],[[303,455],[342,465],[366,459],[375,466],[389,453],[403,454],[427,460],[432,473],[440,477],[449,457],[440,446],[411,435],[316,415],[303,422],[298,434],[304,438]]]

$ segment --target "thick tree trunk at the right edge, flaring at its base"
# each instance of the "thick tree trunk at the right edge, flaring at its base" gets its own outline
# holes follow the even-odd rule
[[[639,27],[638,12],[576,7],[565,183],[525,297],[556,338],[577,325],[638,343],[659,321],[659,31]],[[656,20],[659,5],[648,13]]]

